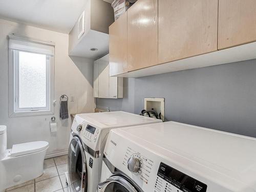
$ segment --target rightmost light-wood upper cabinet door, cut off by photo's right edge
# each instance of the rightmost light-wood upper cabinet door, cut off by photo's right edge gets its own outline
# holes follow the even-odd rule
[[[256,41],[256,1],[219,0],[218,49]]]

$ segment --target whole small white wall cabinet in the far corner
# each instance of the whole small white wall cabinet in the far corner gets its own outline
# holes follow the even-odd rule
[[[94,97],[123,98],[123,78],[110,77],[109,54],[94,61]]]

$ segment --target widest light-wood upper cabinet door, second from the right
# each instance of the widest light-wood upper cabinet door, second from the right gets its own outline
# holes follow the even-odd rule
[[[159,0],[158,7],[159,63],[217,51],[218,0]]]

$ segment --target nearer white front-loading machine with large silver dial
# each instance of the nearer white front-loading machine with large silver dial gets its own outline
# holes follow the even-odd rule
[[[177,122],[110,132],[98,192],[256,191],[256,139]]]

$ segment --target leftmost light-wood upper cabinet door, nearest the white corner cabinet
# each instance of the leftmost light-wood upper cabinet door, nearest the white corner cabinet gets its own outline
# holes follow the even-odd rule
[[[127,72],[127,12],[109,28],[110,76]]]

